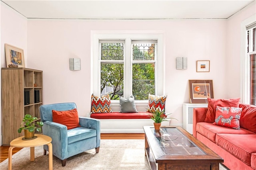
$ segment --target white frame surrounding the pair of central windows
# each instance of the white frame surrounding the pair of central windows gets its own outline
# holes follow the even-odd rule
[[[155,95],[165,93],[165,53],[163,33],[160,31],[92,31],[91,32],[91,93],[100,96],[100,39],[125,39],[124,43],[124,97],[132,95],[132,39],[157,39],[157,60],[155,64]],[[150,62],[150,61],[148,61]],[[128,67],[128,65],[130,67]],[[126,79],[130,78],[129,82]],[[148,100],[135,100],[136,106],[147,106]],[[119,100],[111,100],[113,106],[119,106]]]

